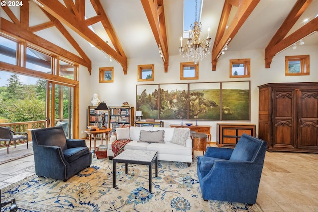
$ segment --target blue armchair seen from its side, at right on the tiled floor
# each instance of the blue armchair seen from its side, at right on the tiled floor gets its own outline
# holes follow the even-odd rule
[[[198,157],[204,200],[256,203],[267,142],[243,134],[235,148],[208,147]]]

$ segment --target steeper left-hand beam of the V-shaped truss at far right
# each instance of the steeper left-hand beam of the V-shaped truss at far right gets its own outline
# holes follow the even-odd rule
[[[267,47],[265,48],[265,68],[269,68],[273,57],[278,52],[283,50],[283,49],[277,48],[276,44],[280,43],[284,39],[284,37],[291,30],[291,28],[294,26],[296,21],[300,18],[300,16],[304,13],[304,11],[307,9],[307,7],[310,5],[312,1],[313,0],[298,0],[295,3],[292,10],[289,12],[288,16],[286,17],[282,25],[279,27],[275,35],[272,37]],[[276,47],[274,48],[274,46]],[[285,46],[285,45],[278,45],[278,46]]]

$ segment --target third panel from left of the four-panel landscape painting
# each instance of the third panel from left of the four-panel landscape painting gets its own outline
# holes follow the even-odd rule
[[[190,83],[189,119],[220,120],[220,82]]]

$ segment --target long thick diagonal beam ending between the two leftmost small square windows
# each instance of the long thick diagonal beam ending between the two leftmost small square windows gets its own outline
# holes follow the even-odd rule
[[[70,27],[73,31],[78,33],[85,40],[93,44],[96,48],[103,50],[110,57],[116,60],[123,67],[124,73],[127,72],[127,57],[122,56],[120,53],[116,52],[111,48],[104,40],[102,40],[98,35],[91,31],[85,24],[84,21],[81,21],[76,15],[69,12],[69,10],[62,5],[59,1],[52,0],[37,0],[44,7],[45,11],[50,13],[52,16],[56,17],[59,21]],[[85,3],[85,1],[81,1]]]

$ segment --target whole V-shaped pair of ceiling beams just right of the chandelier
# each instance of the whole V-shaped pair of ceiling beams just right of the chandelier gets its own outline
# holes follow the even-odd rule
[[[219,22],[218,32],[216,40],[212,49],[212,71],[216,70],[218,57],[225,46],[233,37],[237,34],[241,26],[244,24],[248,16],[255,9],[260,0],[225,0],[221,19]],[[229,18],[232,5],[239,5],[238,11],[233,20],[229,24],[227,30],[225,30],[227,20]]]

